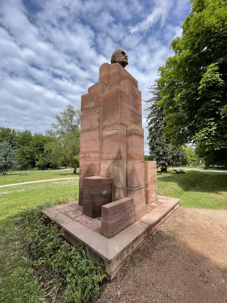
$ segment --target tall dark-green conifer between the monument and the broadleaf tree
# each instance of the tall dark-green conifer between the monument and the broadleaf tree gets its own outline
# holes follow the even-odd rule
[[[168,166],[183,161],[185,154],[181,147],[175,148],[173,140],[166,140],[163,136],[166,125],[163,122],[163,108],[158,106],[158,102],[162,98],[160,94],[162,87],[158,80],[155,80],[154,85],[150,86],[149,89],[150,93],[153,94],[153,97],[146,101],[151,102],[151,106],[147,108],[149,114],[146,117],[149,132],[147,137],[150,150],[149,159],[157,161],[157,167],[161,168],[162,172],[166,172]]]

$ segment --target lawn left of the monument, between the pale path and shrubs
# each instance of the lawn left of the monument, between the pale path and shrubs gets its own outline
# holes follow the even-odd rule
[[[46,302],[15,222],[21,208],[51,199],[78,199],[78,185],[79,179],[69,179],[0,188],[0,302]]]

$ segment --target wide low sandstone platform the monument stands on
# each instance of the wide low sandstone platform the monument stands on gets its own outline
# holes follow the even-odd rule
[[[158,196],[135,217],[134,223],[108,239],[101,235],[101,217],[89,218],[82,214],[78,201],[45,208],[47,220],[57,222],[65,230],[64,238],[73,245],[81,242],[89,250],[90,258],[99,258],[106,265],[106,279],[111,281],[121,266],[158,226],[179,206],[179,199]]]

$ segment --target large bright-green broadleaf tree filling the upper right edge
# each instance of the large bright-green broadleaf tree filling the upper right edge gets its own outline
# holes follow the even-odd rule
[[[177,145],[196,143],[206,165],[227,155],[227,2],[191,0],[192,11],[174,55],[160,67],[164,134]]]

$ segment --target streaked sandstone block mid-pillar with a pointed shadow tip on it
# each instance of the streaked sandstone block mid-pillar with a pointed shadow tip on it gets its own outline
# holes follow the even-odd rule
[[[113,125],[101,130],[101,159],[125,160],[125,126]]]

